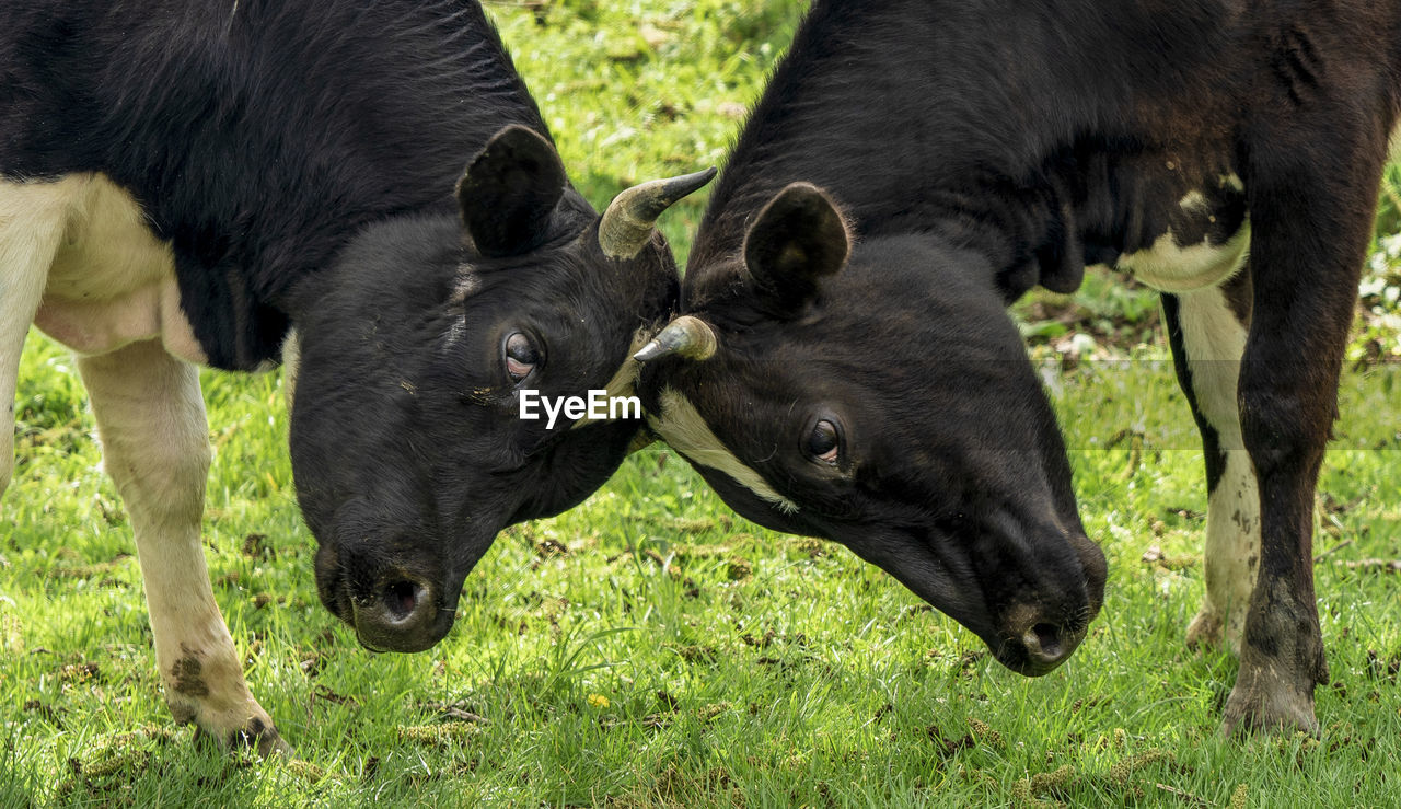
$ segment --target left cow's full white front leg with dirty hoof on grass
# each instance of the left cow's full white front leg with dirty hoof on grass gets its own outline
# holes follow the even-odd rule
[[[227,746],[286,750],[244,683],[200,547],[209,433],[199,376],[158,341],[81,358],[104,465],[126,503],[146,582],[156,662],[178,722]]]

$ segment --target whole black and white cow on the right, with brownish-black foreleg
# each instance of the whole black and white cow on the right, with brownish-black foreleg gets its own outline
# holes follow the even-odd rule
[[[1038,674],[1105,564],[1002,306],[1132,275],[1206,449],[1188,639],[1238,652],[1227,732],[1313,729],[1313,492],[1398,107],[1397,0],[817,0],[685,314],[639,355],[643,404],[737,510],[849,545]]]

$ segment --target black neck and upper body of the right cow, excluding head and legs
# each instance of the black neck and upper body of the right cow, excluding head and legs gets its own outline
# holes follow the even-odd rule
[[[817,0],[712,192],[684,296],[724,289],[724,257],[796,181],[867,238],[953,217],[1019,245],[996,257],[1010,297],[1073,286],[1082,254],[1150,248],[1184,199],[1243,209],[1241,143],[1297,104],[1282,84],[1386,118],[1398,42],[1397,0]]]

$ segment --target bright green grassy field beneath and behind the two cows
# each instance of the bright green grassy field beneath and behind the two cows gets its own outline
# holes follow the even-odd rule
[[[797,0],[492,4],[576,182],[720,163]],[[1393,168],[1379,233],[1401,230]],[[700,200],[668,215],[684,254]],[[1359,307],[1320,487],[1334,683],[1321,739],[1217,737],[1236,666],[1184,649],[1202,457],[1156,299],[1094,276],[1017,315],[1072,447],[1104,613],[1027,680],[836,545],[733,516],[664,449],[506,531],[450,638],[370,655],[317,601],[276,373],[207,373],[207,557],[298,759],[191,745],[158,683],[129,527],[67,356],[34,335],[0,534],[0,806],[1380,806],[1401,789],[1401,237]]]

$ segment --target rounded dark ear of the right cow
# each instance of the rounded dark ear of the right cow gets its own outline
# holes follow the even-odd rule
[[[744,264],[755,292],[779,311],[796,313],[818,282],[846,266],[852,237],[842,212],[821,188],[794,182],[779,192],[744,237]]]

